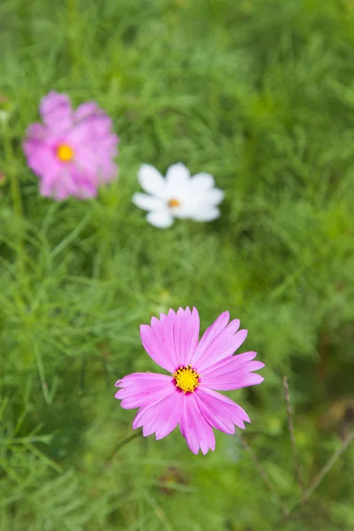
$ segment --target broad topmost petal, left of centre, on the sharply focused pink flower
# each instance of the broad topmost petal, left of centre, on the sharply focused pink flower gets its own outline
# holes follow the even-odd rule
[[[151,327],[142,325],[142,345],[159,366],[174,373],[179,366],[189,365],[199,334],[199,315],[196,308],[170,310],[167,317],[151,319]]]

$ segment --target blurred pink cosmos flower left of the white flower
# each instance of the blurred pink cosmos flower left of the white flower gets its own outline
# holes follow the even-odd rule
[[[27,164],[41,181],[42,196],[62,201],[95,197],[98,187],[112,181],[112,162],[119,138],[110,119],[95,102],[73,111],[70,98],[52,91],[40,104],[43,123],[27,128],[23,149]]]

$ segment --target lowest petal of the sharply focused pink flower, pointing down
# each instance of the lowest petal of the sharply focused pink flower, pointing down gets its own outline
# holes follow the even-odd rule
[[[215,436],[212,427],[200,412],[194,394],[184,396],[180,429],[193,453],[197,454],[201,449],[205,455],[209,450],[215,450]]]

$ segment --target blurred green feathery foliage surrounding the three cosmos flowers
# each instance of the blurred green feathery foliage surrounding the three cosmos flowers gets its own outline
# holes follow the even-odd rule
[[[351,0],[2,0],[1,531],[354,527],[352,447],[281,512],[300,496],[283,375],[305,485],[353,424],[353,24]],[[21,142],[50,89],[114,119],[119,181],[96,201],[38,196]],[[215,176],[222,217],[160,231],[137,169],[178,161]],[[120,444],[114,382],[155,370],[139,325],[187,304],[203,329],[242,319],[266,362],[229,396],[273,490],[238,437]]]

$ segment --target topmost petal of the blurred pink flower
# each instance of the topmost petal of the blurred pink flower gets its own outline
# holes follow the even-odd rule
[[[42,97],[40,112],[44,124],[57,134],[63,133],[73,125],[69,96],[58,94],[55,90]]]

